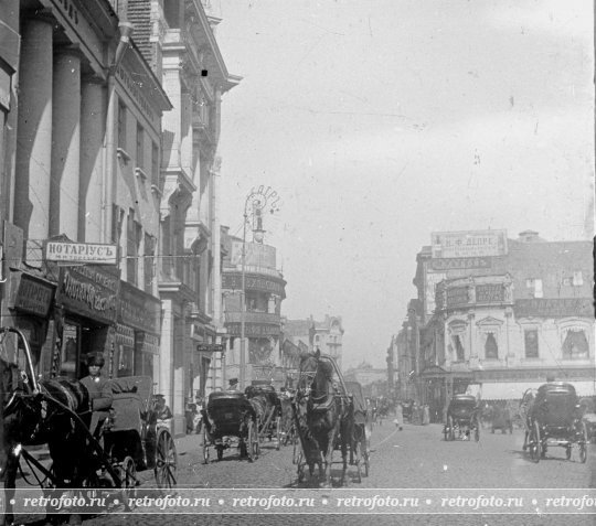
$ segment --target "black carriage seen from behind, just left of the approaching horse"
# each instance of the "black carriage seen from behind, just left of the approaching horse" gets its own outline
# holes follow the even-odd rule
[[[214,448],[217,460],[224,450],[237,440],[241,458],[258,459],[259,446],[256,415],[242,391],[216,391],[209,395],[203,414],[203,459],[210,460],[210,448]]]

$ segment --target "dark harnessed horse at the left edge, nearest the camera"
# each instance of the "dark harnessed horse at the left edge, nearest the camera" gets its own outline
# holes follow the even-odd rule
[[[13,520],[10,498],[14,494],[22,446],[47,444],[52,458],[49,486],[83,487],[89,474],[95,473],[87,433],[82,430],[91,423],[87,388],[66,379],[38,383],[30,376],[0,358],[3,396],[0,460],[7,503],[0,524]],[[81,524],[81,517],[71,515],[71,524]]]

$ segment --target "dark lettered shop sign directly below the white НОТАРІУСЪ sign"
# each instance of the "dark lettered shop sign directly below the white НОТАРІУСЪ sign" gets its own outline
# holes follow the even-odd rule
[[[60,269],[56,302],[86,318],[114,323],[120,279],[92,266]]]

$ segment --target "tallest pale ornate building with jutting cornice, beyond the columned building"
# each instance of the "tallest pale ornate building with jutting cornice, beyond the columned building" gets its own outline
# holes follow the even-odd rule
[[[181,432],[185,401],[223,382],[221,353],[209,351],[224,334],[216,151],[221,98],[240,77],[227,72],[215,40],[221,20],[199,0],[129,0],[128,12],[172,103],[163,117],[158,187],[159,386]]]

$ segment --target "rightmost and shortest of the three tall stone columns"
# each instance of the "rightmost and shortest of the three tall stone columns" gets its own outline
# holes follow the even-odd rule
[[[87,243],[104,243],[102,196],[106,88],[100,78],[86,76],[81,86],[81,179],[78,187],[78,236]]]

